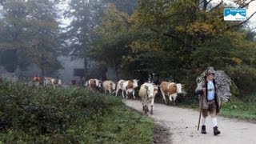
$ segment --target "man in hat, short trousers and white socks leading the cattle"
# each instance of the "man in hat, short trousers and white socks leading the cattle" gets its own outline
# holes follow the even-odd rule
[[[220,109],[220,98],[218,97],[218,89],[214,80],[214,70],[207,70],[204,81],[199,83],[195,90],[196,94],[200,94],[200,108],[202,109],[202,129],[201,133],[206,134],[206,117],[210,114],[212,125],[214,127],[214,135],[221,134],[217,126],[217,114]]]

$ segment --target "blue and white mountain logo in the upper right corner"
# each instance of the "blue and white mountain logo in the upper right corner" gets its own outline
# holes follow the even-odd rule
[[[245,21],[246,9],[224,9],[225,21]]]

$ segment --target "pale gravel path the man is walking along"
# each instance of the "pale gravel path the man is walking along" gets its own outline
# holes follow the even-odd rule
[[[142,111],[140,101],[126,100],[127,106]],[[256,124],[237,119],[218,117],[218,128],[222,134],[214,136],[210,117],[206,119],[207,134],[197,130],[198,112],[174,106],[154,104],[154,114],[150,117],[158,122],[165,122],[170,127],[171,142],[184,144],[255,144]]]

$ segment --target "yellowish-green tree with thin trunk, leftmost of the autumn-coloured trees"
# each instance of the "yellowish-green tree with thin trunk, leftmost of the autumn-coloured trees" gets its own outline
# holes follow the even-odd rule
[[[122,57],[127,53],[125,46],[131,39],[128,18],[127,14],[118,11],[114,4],[110,4],[101,18],[101,25],[95,30],[97,38],[89,51],[90,58],[95,62],[113,67],[118,79]]]

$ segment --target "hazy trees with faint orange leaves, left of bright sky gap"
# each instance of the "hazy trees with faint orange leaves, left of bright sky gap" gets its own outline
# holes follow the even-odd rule
[[[2,2],[0,50],[2,54],[12,51],[6,58],[17,58],[11,71],[32,63],[42,69],[42,75],[61,68],[57,60],[60,43],[55,4],[50,0]]]

